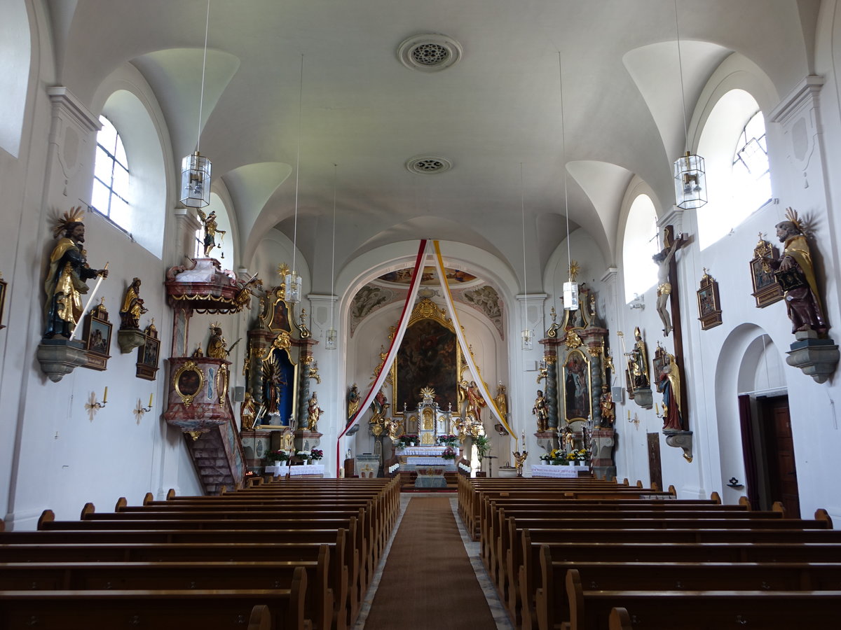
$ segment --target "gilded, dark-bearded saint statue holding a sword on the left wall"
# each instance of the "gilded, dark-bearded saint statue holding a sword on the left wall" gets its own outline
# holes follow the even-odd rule
[[[53,230],[61,239],[50,254],[50,268],[44,281],[47,295],[44,338],[70,339],[73,329],[82,318],[82,295],[87,293],[85,281],[97,276],[108,277],[106,269],[91,269],[87,265],[85,224],[82,207],[71,208],[59,219]]]

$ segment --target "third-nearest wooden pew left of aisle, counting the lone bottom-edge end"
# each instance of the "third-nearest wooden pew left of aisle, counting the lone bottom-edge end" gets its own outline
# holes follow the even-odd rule
[[[315,562],[0,563],[0,591],[22,586],[30,591],[290,591],[303,568],[309,576],[304,622],[328,629],[334,612],[329,562],[329,549],[323,545]]]

